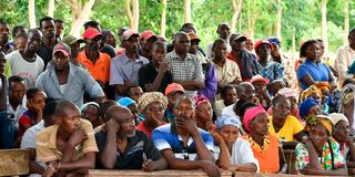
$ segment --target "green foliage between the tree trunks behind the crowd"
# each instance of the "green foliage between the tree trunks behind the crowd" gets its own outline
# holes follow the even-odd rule
[[[87,2],[88,0],[80,0]],[[255,2],[255,4],[253,4]],[[248,32],[248,11],[254,12],[254,32],[256,39],[266,39],[275,35],[275,22],[277,6],[276,0],[244,0],[243,9],[236,32]],[[355,27],[355,1],[349,0],[349,27]],[[282,45],[290,50],[292,37],[295,34],[296,44],[303,40],[321,37],[321,1],[320,0],[282,0]],[[0,0],[0,19],[7,21],[10,27],[22,24],[29,27],[28,0]],[[192,22],[201,38],[201,46],[217,38],[216,27],[221,22],[231,22],[233,9],[231,0],[193,0]],[[36,0],[37,22],[47,15],[48,0]],[[161,0],[140,0],[139,30],[150,29],[160,33],[162,4]],[[71,7],[67,0],[55,0],[54,19],[62,19],[71,25]],[[97,0],[90,13],[90,19],[99,21],[102,29],[110,29],[116,33],[119,27],[129,27],[126,18],[125,0]],[[168,0],[166,9],[166,38],[180,30],[184,22],[184,1]],[[344,33],[344,0],[328,0],[327,3],[328,42],[331,53],[343,44]],[[65,29],[69,33],[70,28]]]

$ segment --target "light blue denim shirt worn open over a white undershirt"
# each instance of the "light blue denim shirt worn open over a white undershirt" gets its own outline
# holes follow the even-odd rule
[[[78,107],[83,104],[84,93],[89,93],[91,97],[104,96],[101,86],[90,73],[72,63],[69,63],[67,90],[63,93],[60,90],[54,67],[50,67],[38,76],[36,87],[44,91],[48,97],[68,100]]]

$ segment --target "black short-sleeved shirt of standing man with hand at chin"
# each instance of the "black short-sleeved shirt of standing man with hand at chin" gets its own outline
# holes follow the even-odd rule
[[[148,64],[144,64],[140,70],[139,70],[139,82],[140,82],[140,86],[142,87],[142,90],[145,92],[145,84],[153,84],[156,75],[158,75],[158,71],[154,67],[153,63],[150,62]],[[166,71],[163,75],[163,79],[160,83],[159,86],[159,92],[163,93],[165,92],[165,88],[169,84],[171,84],[173,82],[173,76],[171,74],[170,71]]]

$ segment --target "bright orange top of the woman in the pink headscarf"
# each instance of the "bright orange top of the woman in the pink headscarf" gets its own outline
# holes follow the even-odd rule
[[[258,162],[260,171],[274,174],[280,171],[278,147],[281,143],[275,135],[268,134],[267,136],[268,137],[264,139],[263,148],[253,140],[252,136],[245,135],[244,138],[251,143],[254,157]]]

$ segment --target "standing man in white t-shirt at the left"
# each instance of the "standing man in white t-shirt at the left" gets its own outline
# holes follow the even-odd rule
[[[23,51],[13,51],[6,56],[7,76],[18,75],[24,80],[28,87],[32,87],[37,76],[44,67],[43,60],[36,53],[41,43],[42,32],[38,29],[30,30],[26,49]]]

